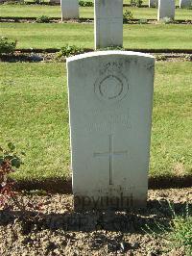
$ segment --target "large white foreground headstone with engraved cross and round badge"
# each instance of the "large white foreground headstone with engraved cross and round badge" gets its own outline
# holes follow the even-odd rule
[[[154,65],[124,51],[67,59],[75,209],[146,205]]]

